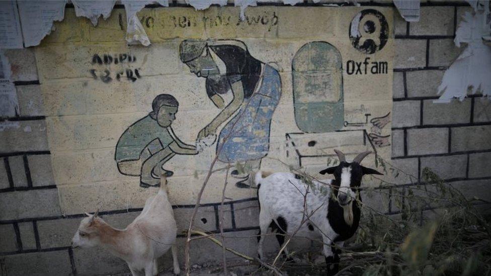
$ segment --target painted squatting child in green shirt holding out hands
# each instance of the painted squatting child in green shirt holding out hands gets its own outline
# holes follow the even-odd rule
[[[158,175],[173,174],[163,164],[176,154],[197,154],[174,134],[171,124],[176,120],[179,102],[171,95],[160,94],[152,102],[152,112],[129,126],[116,145],[115,159],[119,172],[140,176],[140,186],[158,186]]]

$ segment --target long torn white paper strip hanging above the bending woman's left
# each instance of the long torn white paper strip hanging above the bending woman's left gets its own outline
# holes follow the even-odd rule
[[[136,13],[141,11],[145,5],[158,3],[164,7],[169,7],[169,2],[166,1],[121,1],[126,11],[126,41],[128,44],[141,43],[144,46],[150,45],[150,39],[148,38],[143,25],[136,16]]]

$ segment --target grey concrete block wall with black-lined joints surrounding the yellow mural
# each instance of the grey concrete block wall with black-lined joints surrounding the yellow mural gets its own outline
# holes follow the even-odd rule
[[[173,8],[168,9],[172,13]],[[391,163],[416,177],[420,177],[424,167],[429,167],[447,182],[467,191],[469,197],[491,200],[488,192],[491,185],[489,100],[471,95],[463,102],[432,103],[438,98],[436,88],[445,68],[461,51],[453,44],[459,15],[470,10],[464,3],[436,6],[424,3],[418,23],[406,23],[395,17]],[[394,13],[397,13],[395,9]],[[71,236],[84,215],[64,215],[60,207],[34,49],[7,50],[6,55],[12,65],[20,115],[4,119],[18,127],[0,131],[3,161],[0,164],[0,271],[5,275],[128,271],[123,261],[104,251],[69,248]],[[410,184],[398,181],[401,185]],[[401,189],[401,192],[404,191]],[[381,201],[371,198],[368,202],[377,202],[376,208],[384,213],[397,213],[390,198]],[[189,217],[193,207],[176,206],[176,216]],[[196,225],[217,232],[220,208],[214,203],[202,206]],[[234,201],[224,208],[224,228],[229,237],[226,244],[255,255],[257,201],[254,198]],[[108,210],[101,214],[108,223],[122,228],[140,210]],[[180,229],[183,228],[184,225],[180,225]],[[273,240],[269,243],[272,248],[277,247]],[[183,238],[179,238],[179,244],[184,244]],[[193,263],[220,258],[221,250],[211,242],[192,243]],[[170,257],[162,261],[169,266]]]

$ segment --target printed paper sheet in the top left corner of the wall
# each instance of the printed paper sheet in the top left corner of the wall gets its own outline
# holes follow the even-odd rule
[[[21,23],[15,1],[0,5],[0,49],[22,48]]]

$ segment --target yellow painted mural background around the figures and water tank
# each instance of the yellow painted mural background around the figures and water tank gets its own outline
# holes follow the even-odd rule
[[[124,10],[113,10],[107,21],[101,20],[97,27],[93,27],[88,19],[76,18],[73,10],[68,9],[65,20],[55,24],[56,31],[36,48],[49,149],[63,213],[142,207],[146,198],[154,193],[154,189],[139,187],[139,177],[121,174],[114,155],[119,137],[131,124],[151,111],[155,96],[171,94],[178,100],[179,112],[172,127],[176,135],[188,144],[194,144],[198,132],[218,115],[220,110],[206,95],[205,78],[192,74],[180,60],[179,44],[184,39],[240,40],[247,45],[253,57],[271,64],[279,72],[281,98],[272,117],[269,152],[261,162],[261,169],[285,171],[289,165],[296,168],[301,165],[302,170],[320,176],[317,172],[325,168],[328,160],[336,159],[333,159],[333,148],[342,149],[348,158],[363,150],[376,150],[378,156],[389,160],[393,12],[390,8],[376,9],[386,20],[388,40],[382,49],[367,54],[355,49],[349,37],[350,24],[364,10],[367,9],[248,8],[247,19],[241,22],[238,8],[210,8],[205,11],[193,8],[143,9],[138,17],[152,43],[144,47],[126,45]],[[376,21],[377,17],[371,16],[371,20]],[[364,38],[379,43],[377,32],[369,35],[363,32],[363,26],[359,27],[360,30],[366,35]],[[341,132],[305,134],[295,123],[292,60],[303,45],[314,41],[328,42],[341,54],[343,121],[360,123],[348,124]],[[95,54],[101,57],[104,54],[112,57],[126,54],[135,57],[136,61],[94,64]],[[383,74],[373,74],[369,65],[366,74],[364,69],[360,74],[350,74],[347,70],[349,60],[353,61],[351,66],[364,66],[364,61],[369,64],[387,62],[388,70]],[[136,80],[126,77],[127,69]],[[135,70],[140,77],[136,77]],[[118,72],[123,72],[119,80],[116,77]],[[106,83],[102,80],[104,76],[110,76],[112,80]],[[367,117],[365,114],[370,115]],[[376,119],[380,117],[384,118]],[[320,120],[327,123],[331,118]],[[377,129],[376,125],[381,120],[383,127]],[[225,125],[217,129],[217,135]],[[382,139],[385,144],[379,146],[376,142],[380,140],[377,139]],[[315,141],[314,145],[309,143],[312,141]],[[173,204],[196,202],[215,150],[216,143],[197,155],[176,155],[166,163],[166,169],[174,171],[169,178]],[[299,154],[310,157],[300,158]],[[374,167],[375,155],[367,157],[364,165]],[[225,166],[225,163],[218,162],[215,168]],[[202,203],[221,200],[224,179],[224,170],[212,175]],[[255,189],[237,188],[234,185],[237,180],[230,176],[228,179],[228,199],[256,196]],[[370,177],[365,178],[365,182],[365,185],[378,185]]]

